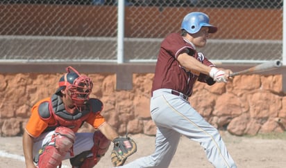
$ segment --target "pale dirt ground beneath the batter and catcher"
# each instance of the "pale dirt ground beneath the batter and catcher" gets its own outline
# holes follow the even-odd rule
[[[151,154],[155,148],[155,137],[142,134],[129,135],[137,142],[137,153],[128,158],[131,162],[141,156]],[[241,168],[281,168],[286,165],[286,140],[260,137],[237,137],[221,132],[228,151]],[[0,138],[0,167],[25,167],[22,151],[22,137]],[[110,168],[110,149],[95,167]],[[62,167],[71,167],[65,160]],[[201,146],[185,137],[180,139],[178,150],[171,161],[170,168],[212,167],[205,158]]]

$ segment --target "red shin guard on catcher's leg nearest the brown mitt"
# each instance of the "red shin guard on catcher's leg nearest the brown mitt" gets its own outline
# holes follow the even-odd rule
[[[90,151],[83,151],[78,156],[71,158],[70,162],[73,167],[91,168],[94,167],[102,156],[108,151],[111,141],[106,138],[100,131],[95,131],[94,146]]]

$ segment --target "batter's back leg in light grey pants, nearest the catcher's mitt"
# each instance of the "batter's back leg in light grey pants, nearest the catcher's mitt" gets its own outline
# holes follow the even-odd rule
[[[169,110],[169,104],[166,103],[165,97],[151,98],[151,116],[157,126],[155,151],[150,156],[139,158],[122,166],[122,168],[169,167],[180,140],[180,133],[172,128],[178,123],[172,120],[174,116],[170,115]]]

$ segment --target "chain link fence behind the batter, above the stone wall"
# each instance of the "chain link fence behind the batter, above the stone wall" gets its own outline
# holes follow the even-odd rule
[[[3,0],[0,62],[117,62],[117,5],[117,0]],[[180,32],[192,11],[205,12],[219,28],[201,49],[212,61],[282,59],[282,1],[129,0],[124,11],[124,62],[155,62],[162,39]]]

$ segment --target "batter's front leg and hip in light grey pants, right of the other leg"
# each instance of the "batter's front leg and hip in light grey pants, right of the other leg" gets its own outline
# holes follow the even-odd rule
[[[151,109],[161,111],[160,113],[151,111],[157,126],[173,129],[199,142],[214,167],[237,167],[217,129],[206,122],[189,102],[172,94],[164,94],[160,97],[156,97],[155,101],[151,102]]]

